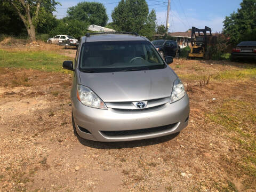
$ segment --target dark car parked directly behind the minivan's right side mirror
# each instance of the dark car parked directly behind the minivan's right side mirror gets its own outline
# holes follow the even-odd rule
[[[162,57],[172,56],[174,58],[180,57],[180,46],[177,42],[172,40],[159,39],[154,40],[153,45],[156,47],[157,51],[162,55]]]

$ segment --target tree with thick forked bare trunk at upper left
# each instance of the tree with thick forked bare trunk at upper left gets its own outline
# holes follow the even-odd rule
[[[58,4],[55,0],[5,0],[17,11],[23,21],[31,41],[36,41],[36,28],[39,21],[39,12],[42,7],[53,12]]]

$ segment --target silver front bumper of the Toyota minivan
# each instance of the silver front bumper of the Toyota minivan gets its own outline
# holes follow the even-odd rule
[[[188,125],[187,94],[174,103],[132,111],[95,109],[82,105],[76,97],[71,100],[76,131],[84,139],[105,142],[149,139],[177,133]]]

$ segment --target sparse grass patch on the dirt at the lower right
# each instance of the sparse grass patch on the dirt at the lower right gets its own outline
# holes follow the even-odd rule
[[[206,117],[214,123],[225,127],[231,141],[239,146],[239,158],[237,166],[247,178],[243,185],[247,189],[255,189],[256,186],[256,108],[255,103],[241,100],[226,100],[221,107]],[[228,161],[227,161],[228,162]],[[228,163],[234,163],[228,162]],[[230,184],[230,183],[229,183]],[[234,187],[234,186],[233,186]],[[232,186],[229,186],[232,188]],[[233,189],[236,191],[235,189]]]

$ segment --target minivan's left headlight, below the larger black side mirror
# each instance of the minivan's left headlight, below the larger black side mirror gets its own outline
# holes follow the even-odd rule
[[[108,109],[105,103],[86,86],[77,85],[76,96],[83,105],[99,109]]]

